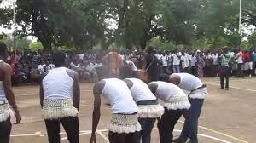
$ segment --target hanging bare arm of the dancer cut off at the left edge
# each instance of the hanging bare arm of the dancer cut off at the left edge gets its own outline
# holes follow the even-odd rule
[[[3,88],[6,94],[6,99],[8,100],[9,105],[13,108],[15,112],[16,123],[20,123],[21,121],[20,112],[15,102],[15,94],[13,92],[12,84],[11,84],[11,68],[10,66],[6,66],[6,68],[3,68],[3,69],[4,69],[3,70]]]

